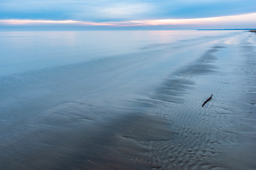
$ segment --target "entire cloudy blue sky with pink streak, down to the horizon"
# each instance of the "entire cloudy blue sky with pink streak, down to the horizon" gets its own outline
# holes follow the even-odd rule
[[[0,29],[256,28],[256,0],[0,0]]]

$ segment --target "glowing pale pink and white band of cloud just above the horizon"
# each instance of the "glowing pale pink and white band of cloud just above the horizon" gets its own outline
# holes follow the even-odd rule
[[[53,20],[0,20],[1,26],[106,26],[109,28],[132,28],[132,27],[154,27],[171,26],[186,28],[246,28],[247,26],[256,27],[256,13],[248,13],[235,16],[219,16],[210,18],[187,18],[187,19],[155,19],[155,20],[131,20],[131,21],[107,21],[107,22],[86,22],[86,21],[53,21]]]

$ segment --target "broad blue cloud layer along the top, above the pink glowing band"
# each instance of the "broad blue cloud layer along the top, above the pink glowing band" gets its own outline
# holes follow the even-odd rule
[[[0,19],[137,21],[256,12],[255,0],[1,0]]]

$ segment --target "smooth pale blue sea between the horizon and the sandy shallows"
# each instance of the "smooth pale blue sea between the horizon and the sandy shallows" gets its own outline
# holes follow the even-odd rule
[[[223,35],[216,31],[210,35]],[[138,52],[208,31],[4,31],[0,32],[0,76]]]

